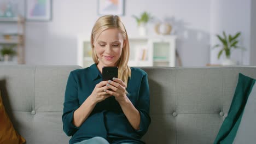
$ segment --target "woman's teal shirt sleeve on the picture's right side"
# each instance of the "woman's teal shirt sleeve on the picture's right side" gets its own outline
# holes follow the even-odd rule
[[[146,134],[149,124],[151,122],[150,116],[149,116],[149,86],[148,86],[148,77],[147,74],[143,75],[142,81],[141,81],[141,87],[139,88],[139,98],[138,103],[136,105],[137,110],[139,111],[139,114],[141,115],[141,122],[139,124],[139,130],[137,130],[137,133],[141,136]]]

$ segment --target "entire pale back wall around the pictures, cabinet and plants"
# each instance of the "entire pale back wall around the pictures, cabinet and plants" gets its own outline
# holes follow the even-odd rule
[[[13,1],[24,7],[25,0]],[[256,47],[255,42],[250,40],[251,35],[252,38],[255,36],[255,32],[250,33],[253,20],[255,23],[255,18],[251,15],[251,1],[126,0],[125,15],[121,19],[129,35],[137,34],[136,21],[132,15],[139,15],[145,10],[158,19],[170,21],[173,32],[178,35],[176,48],[183,66],[190,67],[220,63],[221,59],[217,59],[218,50],[210,49],[217,43],[215,34],[223,30],[231,34],[241,31],[241,44],[247,51],[242,54],[240,50],[234,51],[231,58],[236,59],[238,64],[248,65],[250,61],[255,62],[253,58],[250,60],[250,45]],[[252,3],[255,5],[255,2]],[[89,35],[99,17],[97,1],[53,0],[52,7],[51,21],[26,23],[27,64],[77,64],[77,35]],[[24,8],[19,10],[22,9]],[[149,35],[156,35],[153,22],[148,28]],[[255,27],[251,28],[255,31]]]

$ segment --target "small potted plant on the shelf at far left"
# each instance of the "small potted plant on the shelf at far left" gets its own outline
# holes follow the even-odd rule
[[[1,55],[4,56],[4,61],[9,61],[9,57],[16,54],[16,51],[13,50],[15,44],[4,44],[2,45],[2,49],[0,50]]]

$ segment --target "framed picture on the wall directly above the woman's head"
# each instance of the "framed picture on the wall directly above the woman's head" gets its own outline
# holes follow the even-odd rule
[[[124,15],[124,0],[98,0],[98,15]]]

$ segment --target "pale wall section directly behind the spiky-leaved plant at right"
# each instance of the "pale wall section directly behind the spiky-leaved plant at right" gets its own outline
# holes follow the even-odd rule
[[[211,1],[211,45],[219,44],[216,34],[225,31],[234,35],[241,32],[241,46],[246,51],[231,51],[231,59],[239,65],[249,65],[250,57],[250,25],[251,25],[251,0],[212,0]],[[225,54],[217,58],[219,49],[211,49],[211,63],[221,63]]]

